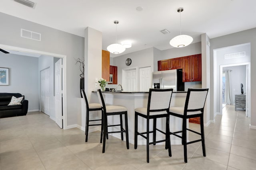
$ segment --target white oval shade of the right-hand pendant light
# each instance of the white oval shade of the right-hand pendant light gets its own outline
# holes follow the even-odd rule
[[[172,47],[180,48],[180,47],[186,47],[190,45],[193,41],[193,38],[189,35],[178,35],[171,39],[170,45]]]

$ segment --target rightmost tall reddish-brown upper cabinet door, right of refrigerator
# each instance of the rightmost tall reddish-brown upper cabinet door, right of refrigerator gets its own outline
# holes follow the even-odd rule
[[[191,55],[191,81],[202,81],[202,55]]]

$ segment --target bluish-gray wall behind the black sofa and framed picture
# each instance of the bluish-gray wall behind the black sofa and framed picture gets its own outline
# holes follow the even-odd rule
[[[0,67],[9,68],[9,86],[0,86],[0,92],[20,93],[28,110],[38,110],[38,58],[0,52]]]

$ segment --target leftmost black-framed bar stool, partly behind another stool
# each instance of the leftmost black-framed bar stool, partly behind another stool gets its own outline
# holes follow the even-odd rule
[[[90,114],[90,111],[97,111],[97,110],[100,110],[101,111],[101,116],[103,117],[103,110],[102,110],[102,107],[100,104],[98,103],[91,103],[91,104],[88,104],[88,100],[86,98],[86,94],[84,92],[84,89],[81,90],[82,92],[82,96],[84,98],[84,102],[86,104],[86,125],[85,125],[85,142],[88,141],[88,130],[89,130],[89,126],[98,126],[98,125],[101,125],[101,130],[103,129],[103,125],[102,125],[102,119],[94,119],[94,120],[90,120],[89,119],[89,114]],[[89,124],[90,121],[101,121],[101,124]],[[100,141],[102,141],[102,133],[100,134]]]

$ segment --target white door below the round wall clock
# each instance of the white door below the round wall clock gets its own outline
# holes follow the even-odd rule
[[[136,68],[130,70],[123,70],[124,91],[135,92],[137,91],[137,74]]]

